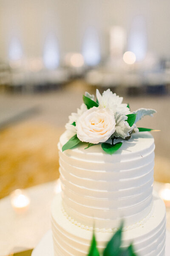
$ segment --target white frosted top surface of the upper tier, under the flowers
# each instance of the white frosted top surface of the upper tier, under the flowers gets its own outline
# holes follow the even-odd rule
[[[67,133],[65,132],[62,134],[59,140],[59,150],[62,151],[62,146],[67,143]],[[116,140],[116,143],[122,141],[121,139]],[[111,143],[111,139],[107,141]],[[145,155],[149,154],[150,151],[154,151],[154,138],[149,132],[142,132],[133,134],[129,140],[124,140],[122,143],[121,148],[114,152],[114,155],[107,154],[105,151],[102,150],[100,144],[96,144],[93,147],[86,148],[88,146],[87,143],[80,143],[78,147],[73,147],[68,151],[65,151],[65,154],[71,157],[79,157],[95,161],[99,160],[109,160],[113,161],[115,158],[116,162],[119,159],[121,154],[121,160],[128,160],[129,158],[138,158],[144,157]]]

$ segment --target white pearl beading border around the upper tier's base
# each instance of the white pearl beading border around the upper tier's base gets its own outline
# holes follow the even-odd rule
[[[61,207],[61,210],[62,210],[63,215],[68,219],[68,221],[70,221],[72,224],[76,225],[77,227],[80,227],[81,229],[85,229],[85,230],[89,230],[89,231],[94,230],[95,232],[102,232],[102,233],[114,233],[118,230],[116,227],[106,229],[106,228],[85,226],[85,225],[79,223],[78,221],[75,221],[73,218],[71,218],[71,216],[69,216],[65,212],[65,209],[64,209],[63,205]],[[125,232],[127,230],[132,230],[136,227],[142,226],[151,216],[153,217],[152,213],[153,213],[153,209],[150,211],[150,213],[145,218],[143,218],[142,221],[136,222],[135,224],[130,225],[130,226],[123,227],[122,231]]]

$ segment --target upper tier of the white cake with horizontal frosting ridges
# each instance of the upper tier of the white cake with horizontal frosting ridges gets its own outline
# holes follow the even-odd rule
[[[113,155],[99,145],[62,152],[59,140],[62,204],[72,219],[88,227],[117,227],[124,218],[130,226],[149,215],[153,202],[154,139],[133,134]]]

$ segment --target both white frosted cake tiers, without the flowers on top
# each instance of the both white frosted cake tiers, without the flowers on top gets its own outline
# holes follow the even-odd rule
[[[139,256],[164,256],[166,213],[153,192],[154,139],[133,134],[114,154],[99,144],[62,152],[59,140],[62,193],[51,208],[54,256],[87,256],[95,230],[99,250],[124,219],[124,246],[133,241]],[[95,227],[95,228],[93,228]]]

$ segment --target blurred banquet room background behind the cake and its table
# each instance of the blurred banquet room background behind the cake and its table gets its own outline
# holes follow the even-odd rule
[[[170,1],[0,0],[0,198],[59,177],[57,143],[85,91],[110,88],[161,130],[170,182]]]

